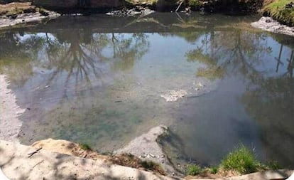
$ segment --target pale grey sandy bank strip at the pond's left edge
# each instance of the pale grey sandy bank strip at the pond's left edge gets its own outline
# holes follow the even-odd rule
[[[18,141],[22,122],[18,116],[25,112],[16,105],[16,96],[8,88],[5,75],[0,75],[0,139]]]

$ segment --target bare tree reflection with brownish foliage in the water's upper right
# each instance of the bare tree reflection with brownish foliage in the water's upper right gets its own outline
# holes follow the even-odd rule
[[[263,36],[251,37],[246,31],[211,32],[205,33],[194,51],[186,53],[187,60],[197,60],[207,65],[206,73],[202,70],[201,75],[211,76],[216,70],[243,73],[246,76],[261,74],[256,70],[256,64],[262,53],[269,53],[269,48],[261,44]],[[222,78],[225,72],[218,72],[215,75]]]

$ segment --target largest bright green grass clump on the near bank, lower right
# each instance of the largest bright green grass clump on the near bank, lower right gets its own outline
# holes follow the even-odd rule
[[[234,170],[240,174],[248,174],[258,171],[260,163],[256,160],[254,153],[250,149],[240,145],[222,159],[221,166],[224,170]]]

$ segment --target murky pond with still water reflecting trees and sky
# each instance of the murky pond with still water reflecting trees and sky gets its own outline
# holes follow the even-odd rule
[[[294,167],[294,38],[256,16],[62,16],[0,31],[20,139],[111,152],[157,125],[173,162],[218,164],[238,144]],[[166,101],[170,91],[187,92]]]

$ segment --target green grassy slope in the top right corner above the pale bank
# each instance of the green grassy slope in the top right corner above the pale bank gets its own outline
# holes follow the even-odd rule
[[[271,16],[281,23],[294,26],[294,1],[275,0],[263,8],[263,15]]]

